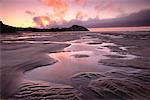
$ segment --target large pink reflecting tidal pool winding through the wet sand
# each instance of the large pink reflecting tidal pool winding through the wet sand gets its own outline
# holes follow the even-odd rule
[[[31,70],[26,73],[25,77],[32,80],[69,84],[70,77],[79,72],[106,72],[114,69],[114,67],[101,65],[98,62],[108,59],[105,55],[112,54],[111,50],[104,46],[116,46],[116,44],[88,44],[91,41],[94,40],[85,37],[66,42],[71,45],[65,48],[64,52],[49,54],[51,58],[58,60],[57,63]]]

